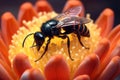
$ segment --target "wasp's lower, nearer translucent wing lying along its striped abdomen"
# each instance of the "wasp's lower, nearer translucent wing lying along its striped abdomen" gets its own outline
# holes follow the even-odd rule
[[[90,21],[91,21],[90,19],[87,19],[85,17],[71,16],[71,17],[66,17],[65,19],[60,21],[56,26],[57,28],[60,28],[70,25],[81,25],[81,24],[89,23]]]

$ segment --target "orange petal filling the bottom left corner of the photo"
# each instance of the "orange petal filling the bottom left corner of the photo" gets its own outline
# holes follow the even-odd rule
[[[0,80],[16,80],[16,75],[14,74],[11,67],[1,59],[0,59]]]

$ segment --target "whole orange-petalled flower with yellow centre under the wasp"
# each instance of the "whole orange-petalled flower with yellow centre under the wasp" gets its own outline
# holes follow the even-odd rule
[[[84,16],[84,7],[79,0],[68,0],[63,11],[78,5],[83,8],[80,16]],[[55,37],[45,56],[38,62],[34,62],[44,50],[45,44],[38,52],[35,47],[29,48],[34,41],[32,36],[26,40],[24,48],[22,48],[23,39],[31,32],[39,31],[43,22],[56,15],[57,13],[46,0],[36,2],[35,9],[29,2],[22,4],[18,21],[10,12],[2,15],[0,33],[0,74],[2,76],[0,79],[115,79],[120,74],[120,25],[112,29],[114,12],[109,8],[101,13],[95,23],[91,21],[86,24],[91,37],[81,39],[86,46],[90,46],[90,50],[78,45],[76,36],[70,34],[71,56],[75,59],[71,61],[66,51],[66,40]],[[88,15],[87,18],[90,16]]]

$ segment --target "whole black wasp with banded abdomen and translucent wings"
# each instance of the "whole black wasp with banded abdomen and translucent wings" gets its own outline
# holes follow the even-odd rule
[[[24,43],[27,37],[30,35],[34,35],[34,42],[32,47],[36,46],[37,50],[39,51],[45,41],[45,38],[46,37],[49,38],[43,54],[40,56],[40,58],[35,60],[36,62],[40,60],[48,50],[48,45],[50,44],[51,39],[54,36],[57,36],[62,39],[67,39],[69,57],[71,60],[73,60],[70,55],[70,39],[67,34],[70,34],[70,33],[76,34],[79,43],[86,49],[88,48],[83,45],[80,38],[81,36],[90,37],[89,30],[85,26],[85,23],[90,22],[90,20],[86,19],[85,17],[78,16],[81,13],[81,11],[82,11],[82,7],[77,6],[74,8],[70,8],[69,10],[59,14],[58,16],[54,17],[51,20],[46,21],[40,27],[41,32],[30,33],[25,37],[22,47],[24,47]],[[63,29],[64,32],[62,32],[61,29]]]

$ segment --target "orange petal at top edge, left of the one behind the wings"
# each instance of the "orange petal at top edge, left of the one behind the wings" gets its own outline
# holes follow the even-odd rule
[[[53,11],[52,6],[46,0],[39,0],[35,4],[37,12],[51,12]]]

